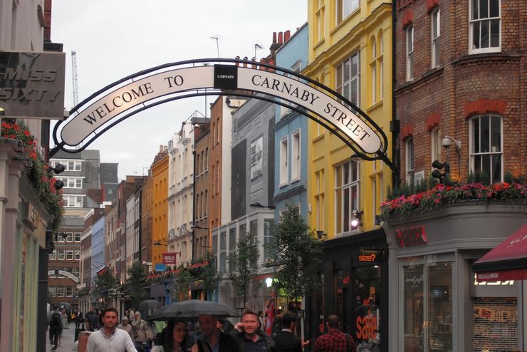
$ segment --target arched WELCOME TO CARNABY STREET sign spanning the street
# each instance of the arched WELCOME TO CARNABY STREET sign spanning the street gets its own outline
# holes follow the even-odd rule
[[[199,95],[239,95],[287,105],[332,130],[363,159],[392,164],[385,155],[383,131],[339,93],[285,68],[226,58],[168,63],[99,90],[56,124],[53,139],[57,147],[50,154],[60,149],[78,152],[135,113]]]

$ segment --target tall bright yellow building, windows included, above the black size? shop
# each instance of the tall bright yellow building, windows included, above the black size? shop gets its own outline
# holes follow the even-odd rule
[[[302,73],[348,98],[388,137],[391,155],[392,5],[381,0],[309,0],[308,67]],[[353,150],[310,120],[308,199],[313,229],[324,239],[379,228],[376,214],[392,182],[384,162],[351,158]],[[353,210],[360,226],[351,225]]]

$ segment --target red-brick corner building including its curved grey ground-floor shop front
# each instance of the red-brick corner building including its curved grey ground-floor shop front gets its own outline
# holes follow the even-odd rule
[[[439,174],[449,165],[459,184],[469,175],[490,183],[525,178],[524,4],[397,0],[395,6],[402,181],[429,177],[434,160]],[[525,214],[524,204],[480,202],[387,219],[390,351],[526,348],[521,281],[477,282],[474,266],[525,224]],[[409,229],[419,242],[396,238]]]

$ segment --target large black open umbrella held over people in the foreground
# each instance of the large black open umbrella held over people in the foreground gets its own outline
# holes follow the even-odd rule
[[[236,312],[224,304],[199,301],[198,299],[190,299],[189,301],[181,301],[169,306],[162,306],[155,311],[151,320],[169,320],[174,318],[190,319],[196,318],[202,314],[210,314],[213,316],[237,316]]]

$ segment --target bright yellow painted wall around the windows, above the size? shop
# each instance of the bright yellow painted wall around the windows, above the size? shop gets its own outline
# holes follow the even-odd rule
[[[337,24],[336,1],[308,1],[309,64],[302,73],[336,90],[337,66],[359,51],[359,108],[385,131],[388,137],[388,157],[392,159],[391,4],[381,0],[360,0],[358,9]],[[375,55],[372,54],[374,46]],[[370,84],[374,67],[375,93]],[[335,166],[348,162],[352,154],[353,150],[335,135],[312,120],[309,121],[308,200],[311,203],[311,214],[308,223],[313,229],[324,230],[327,234],[325,239],[335,237],[335,219],[340,216],[335,214]],[[392,171],[384,162],[360,161],[359,210],[364,214],[362,227],[357,232],[378,227],[375,225],[375,214],[379,214],[380,203],[385,199],[387,186],[391,185],[391,182]]]

